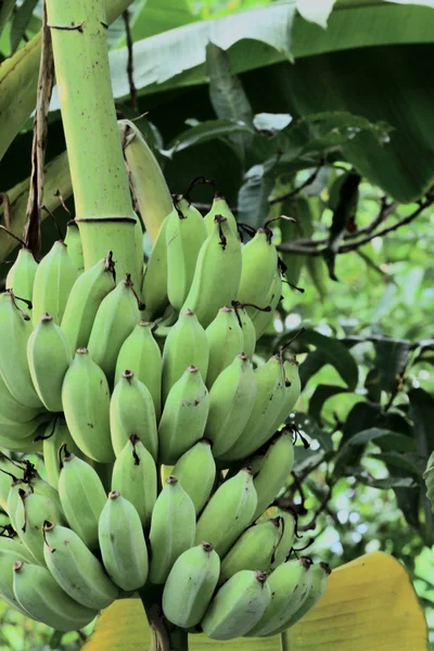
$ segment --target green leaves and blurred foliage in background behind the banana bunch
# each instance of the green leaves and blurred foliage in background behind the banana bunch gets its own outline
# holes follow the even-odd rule
[[[125,20],[108,31],[114,94],[171,191],[204,175],[244,224],[296,219],[275,222],[276,238],[289,282],[305,291],[284,286],[257,359],[305,329],[291,344],[305,391],[290,422],[310,448],[298,442],[281,498],[299,514],[298,547],[315,537],[309,553],[332,566],[374,550],[400,559],[434,628],[434,523],[422,481],[434,449],[434,2],[337,0],[330,16],[314,5],[136,0],[135,88]],[[3,58],[38,31],[40,15],[38,2],[16,4]],[[28,119],[1,163],[2,191],[29,175],[30,148]],[[64,148],[54,95],[48,158]],[[208,184],[192,193],[203,210],[212,196]],[[67,215],[55,214],[64,226]],[[42,235],[47,251],[51,220]],[[0,277],[7,270],[8,261]],[[0,617],[0,648],[81,644],[4,604]]]

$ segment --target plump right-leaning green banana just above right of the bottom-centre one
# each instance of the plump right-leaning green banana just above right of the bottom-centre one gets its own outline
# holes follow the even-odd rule
[[[196,544],[208,540],[222,558],[252,522],[256,490],[248,469],[227,480],[206,505],[196,527]]]

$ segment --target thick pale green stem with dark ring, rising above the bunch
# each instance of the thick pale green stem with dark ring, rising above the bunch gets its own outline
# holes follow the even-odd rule
[[[140,280],[128,177],[108,68],[104,0],[47,0],[85,268],[112,250],[118,277]]]

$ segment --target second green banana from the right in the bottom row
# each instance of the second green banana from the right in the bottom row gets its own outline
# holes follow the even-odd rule
[[[248,631],[248,637],[275,635],[283,623],[295,613],[306,600],[310,586],[311,562],[302,558],[286,561],[269,576],[270,603],[257,624]]]

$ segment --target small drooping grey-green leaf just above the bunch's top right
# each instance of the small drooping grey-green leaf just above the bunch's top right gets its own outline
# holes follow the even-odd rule
[[[238,194],[238,219],[258,228],[268,216],[268,197],[275,181],[267,175],[264,165],[251,167]]]

